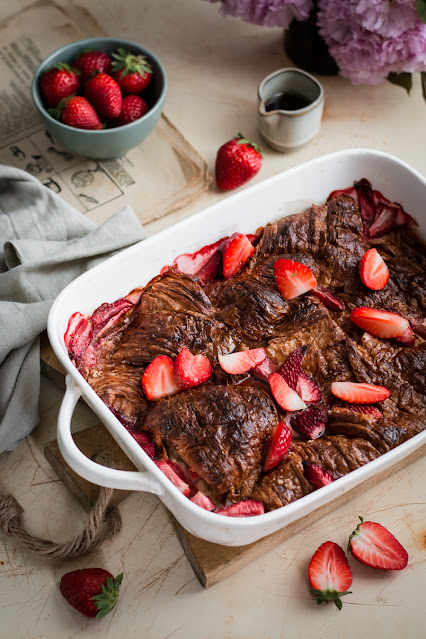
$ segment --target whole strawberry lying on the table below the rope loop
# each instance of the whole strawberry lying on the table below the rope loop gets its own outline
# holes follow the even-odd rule
[[[59,588],[68,603],[82,615],[101,619],[117,603],[122,580],[122,573],[114,579],[103,568],[84,568],[63,575]]]

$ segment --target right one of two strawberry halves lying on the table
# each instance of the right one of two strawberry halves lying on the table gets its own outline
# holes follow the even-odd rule
[[[402,570],[408,563],[408,553],[387,528],[373,521],[364,521],[349,537],[353,556],[366,566],[381,570]]]

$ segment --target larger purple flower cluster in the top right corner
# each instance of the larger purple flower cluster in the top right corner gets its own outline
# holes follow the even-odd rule
[[[353,84],[426,71],[426,25],[414,0],[318,0],[318,6],[320,34]]]

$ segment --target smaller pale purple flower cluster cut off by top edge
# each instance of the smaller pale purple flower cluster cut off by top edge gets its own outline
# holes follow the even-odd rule
[[[293,18],[306,20],[313,0],[209,0],[221,2],[223,15],[236,16],[246,22],[287,29]]]

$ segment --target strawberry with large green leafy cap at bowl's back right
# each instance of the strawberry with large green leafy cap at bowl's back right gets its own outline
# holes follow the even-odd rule
[[[143,55],[134,55],[126,49],[113,53],[113,78],[120,85],[123,95],[140,93],[152,79],[152,67]]]

